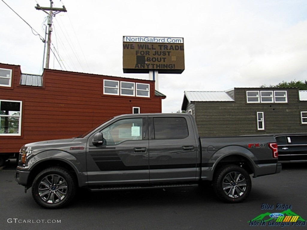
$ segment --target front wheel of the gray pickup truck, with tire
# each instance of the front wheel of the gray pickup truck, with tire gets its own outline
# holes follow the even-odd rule
[[[38,205],[56,209],[68,205],[76,189],[76,181],[70,171],[62,167],[50,167],[37,174],[32,183],[32,196]]]

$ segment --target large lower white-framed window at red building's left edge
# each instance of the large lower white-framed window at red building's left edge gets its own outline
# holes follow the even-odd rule
[[[21,135],[21,101],[0,100],[0,136]]]

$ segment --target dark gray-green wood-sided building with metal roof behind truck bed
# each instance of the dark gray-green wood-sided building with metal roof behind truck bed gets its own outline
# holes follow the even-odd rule
[[[185,91],[200,136],[307,132],[307,91],[298,88],[234,88]]]

